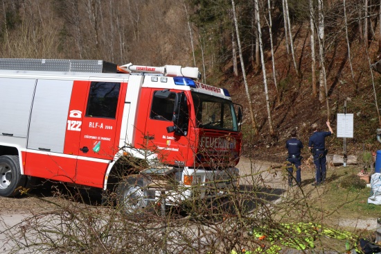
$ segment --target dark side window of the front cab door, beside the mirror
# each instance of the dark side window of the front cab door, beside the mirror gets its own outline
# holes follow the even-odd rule
[[[154,94],[157,92],[161,91],[156,91]],[[170,94],[170,96],[168,96],[166,99],[153,96],[150,118],[163,121],[172,121],[174,106],[175,93]]]

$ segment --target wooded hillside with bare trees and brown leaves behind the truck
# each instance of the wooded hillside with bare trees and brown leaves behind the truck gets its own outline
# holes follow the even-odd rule
[[[344,103],[348,153],[381,147],[380,1],[4,0],[0,12],[1,58],[199,67],[244,106],[244,155],[283,158],[293,128],[307,146]],[[327,142],[342,153],[342,138]]]

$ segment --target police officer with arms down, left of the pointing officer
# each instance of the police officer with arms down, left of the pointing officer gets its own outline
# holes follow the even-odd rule
[[[296,184],[301,185],[301,149],[303,149],[303,143],[299,139],[296,139],[296,130],[292,130],[290,134],[291,139],[286,141],[286,149],[288,149],[288,185],[292,187],[292,173],[294,169],[296,169]]]

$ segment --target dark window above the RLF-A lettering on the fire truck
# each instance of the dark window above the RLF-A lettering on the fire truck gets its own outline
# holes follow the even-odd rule
[[[86,117],[115,118],[121,83],[91,82]]]

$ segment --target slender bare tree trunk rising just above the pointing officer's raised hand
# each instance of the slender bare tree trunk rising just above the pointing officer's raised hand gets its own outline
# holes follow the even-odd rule
[[[330,107],[328,101],[328,89],[327,89],[327,78],[326,78],[326,67],[325,67],[325,49],[324,49],[324,0],[318,0],[319,8],[319,55],[320,55],[320,89],[319,89],[319,101],[323,102],[326,99],[327,107],[327,117],[330,119]],[[324,96],[325,92],[325,96]]]

